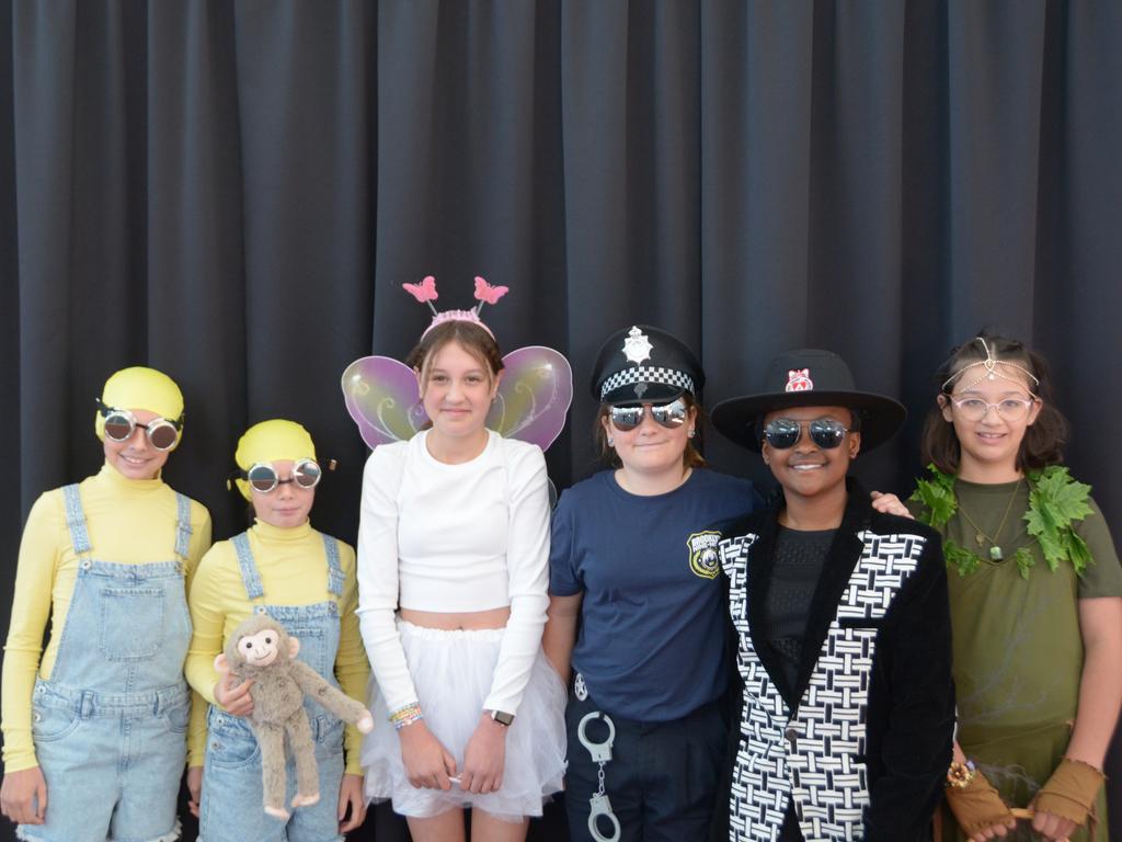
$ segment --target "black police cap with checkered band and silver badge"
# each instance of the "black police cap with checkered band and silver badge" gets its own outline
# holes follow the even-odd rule
[[[635,324],[608,337],[592,369],[592,396],[613,406],[698,396],[705,372],[693,351],[664,330]]]

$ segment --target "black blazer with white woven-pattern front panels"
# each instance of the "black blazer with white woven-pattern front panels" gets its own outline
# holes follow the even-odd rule
[[[806,842],[930,839],[954,729],[939,537],[850,481],[789,687],[762,620],[781,505],[719,544],[743,696],[714,835],[772,842],[793,800]]]

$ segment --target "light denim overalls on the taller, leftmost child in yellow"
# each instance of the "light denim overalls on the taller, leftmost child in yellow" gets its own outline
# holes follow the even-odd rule
[[[65,486],[63,498],[79,569],[55,667],[31,699],[47,821],[20,825],[19,835],[171,842],[191,710],[183,679],[191,501],[175,495],[176,560],[118,564],[90,556],[77,486]]]

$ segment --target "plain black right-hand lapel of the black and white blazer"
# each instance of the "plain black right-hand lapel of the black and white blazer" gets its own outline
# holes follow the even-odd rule
[[[830,543],[822,575],[810,601],[807,632],[802,639],[802,658],[799,662],[799,686],[794,688],[795,705],[801,701],[810,683],[830,623],[837,616],[842,594],[864,549],[864,543],[857,534],[868,525],[872,512],[868,495],[853,479],[846,481],[846,492],[848,497],[842,525],[838,527],[837,534]]]

